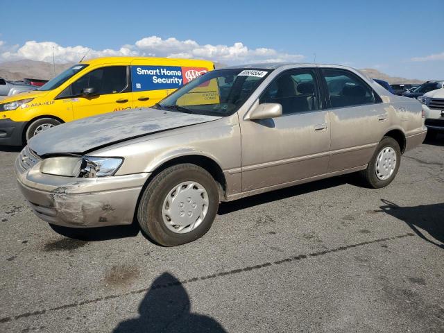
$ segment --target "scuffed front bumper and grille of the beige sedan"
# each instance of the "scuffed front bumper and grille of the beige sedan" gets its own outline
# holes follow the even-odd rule
[[[69,178],[40,172],[26,147],[15,160],[19,189],[42,220],[87,228],[133,223],[140,191],[150,173],[103,178]]]

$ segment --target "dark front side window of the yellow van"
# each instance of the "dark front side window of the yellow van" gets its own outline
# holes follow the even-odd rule
[[[79,96],[83,89],[94,87],[97,94],[117,94],[128,85],[127,67],[112,66],[94,69],[71,84],[71,96]]]

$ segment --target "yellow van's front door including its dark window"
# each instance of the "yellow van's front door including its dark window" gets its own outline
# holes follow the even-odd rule
[[[86,88],[94,88],[94,94],[83,96]],[[130,109],[133,106],[130,91],[127,66],[94,69],[71,84],[74,119]]]

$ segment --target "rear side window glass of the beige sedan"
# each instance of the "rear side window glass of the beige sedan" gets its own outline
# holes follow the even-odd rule
[[[350,71],[322,69],[332,108],[375,103],[373,89]]]

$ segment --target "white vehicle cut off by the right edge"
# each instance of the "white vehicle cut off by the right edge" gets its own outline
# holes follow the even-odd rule
[[[435,137],[438,132],[444,133],[444,89],[435,89],[418,97],[425,111],[427,134]]]

